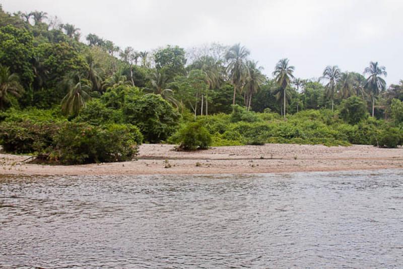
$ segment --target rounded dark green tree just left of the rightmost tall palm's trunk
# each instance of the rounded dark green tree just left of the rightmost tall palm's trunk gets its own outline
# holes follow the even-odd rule
[[[341,104],[340,116],[349,124],[357,124],[368,117],[366,105],[357,96],[349,97]]]

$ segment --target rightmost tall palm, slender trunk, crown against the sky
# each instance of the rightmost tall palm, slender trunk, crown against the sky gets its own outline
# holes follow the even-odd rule
[[[369,74],[365,83],[365,88],[368,90],[372,99],[372,117],[375,112],[375,98],[380,92],[386,89],[386,82],[381,76],[386,77],[386,68],[379,66],[378,62],[370,62],[369,67],[365,68],[364,75]]]

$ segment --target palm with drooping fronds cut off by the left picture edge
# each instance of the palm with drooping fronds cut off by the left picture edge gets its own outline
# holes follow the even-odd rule
[[[0,65],[0,109],[10,102],[10,95],[21,97],[24,88],[17,74],[11,74],[10,68]]]

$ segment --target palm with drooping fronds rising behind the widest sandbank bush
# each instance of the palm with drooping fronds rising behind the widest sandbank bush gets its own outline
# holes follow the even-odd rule
[[[65,81],[69,92],[61,100],[61,111],[64,115],[77,116],[81,109],[86,106],[86,101],[91,99],[89,94],[91,87],[83,84],[80,77],[78,83],[73,83],[74,79],[69,78]]]

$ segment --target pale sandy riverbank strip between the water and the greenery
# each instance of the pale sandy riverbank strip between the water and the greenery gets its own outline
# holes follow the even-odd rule
[[[0,174],[27,175],[156,175],[255,174],[403,168],[403,148],[373,146],[266,144],[213,147],[177,152],[173,145],[145,144],[138,160],[80,166],[21,164],[28,156],[0,154]],[[165,168],[165,160],[170,168]]]

